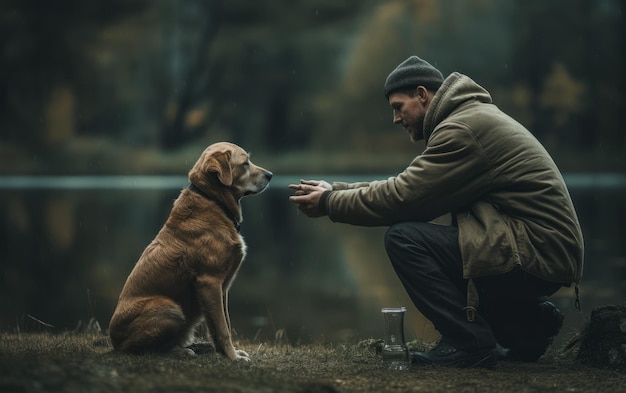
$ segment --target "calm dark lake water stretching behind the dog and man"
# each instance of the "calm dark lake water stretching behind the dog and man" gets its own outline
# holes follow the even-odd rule
[[[384,178],[323,177],[358,181]],[[239,337],[292,343],[381,337],[381,307],[407,306],[408,340],[436,338],[404,294],[383,249],[386,228],[308,219],[276,176],[242,201],[248,256],[231,290]],[[568,175],[586,240],[583,313],[571,289],[560,338],[593,307],[626,300],[626,176]],[[162,177],[0,177],[0,330],[103,328],[144,247],[187,180]],[[45,327],[35,319],[54,327]]]

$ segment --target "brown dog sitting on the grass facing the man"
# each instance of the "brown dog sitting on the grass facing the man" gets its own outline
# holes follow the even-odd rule
[[[185,348],[204,320],[218,352],[250,360],[232,344],[228,289],[246,255],[239,200],[265,190],[271,178],[237,145],[206,148],[189,172],[191,185],[126,280],[109,326],[116,350]]]

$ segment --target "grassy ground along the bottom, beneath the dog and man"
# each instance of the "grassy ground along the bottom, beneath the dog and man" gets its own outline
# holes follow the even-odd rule
[[[251,362],[122,355],[102,336],[0,333],[0,392],[626,392],[626,373],[556,351],[496,370],[385,371],[374,340],[334,345],[238,343]],[[568,358],[569,357],[569,358]]]

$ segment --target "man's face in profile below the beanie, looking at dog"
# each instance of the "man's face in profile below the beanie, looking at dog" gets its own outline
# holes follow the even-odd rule
[[[427,94],[426,90],[420,91],[418,88],[413,97],[401,92],[389,95],[389,105],[393,111],[393,123],[401,124],[413,142],[424,139]]]

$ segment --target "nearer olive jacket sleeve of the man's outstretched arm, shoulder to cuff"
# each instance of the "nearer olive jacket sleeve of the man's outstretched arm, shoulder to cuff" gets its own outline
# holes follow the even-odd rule
[[[426,150],[397,176],[333,190],[326,206],[330,219],[362,226],[430,221],[489,191],[492,165],[471,130],[440,126]]]

